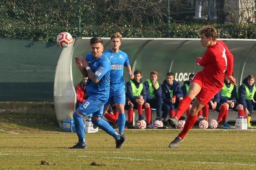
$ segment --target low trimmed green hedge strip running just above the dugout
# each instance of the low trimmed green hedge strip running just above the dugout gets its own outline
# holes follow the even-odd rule
[[[171,24],[171,38],[198,38],[197,30],[203,25],[200,24]],[[213,24],[218,30],[219,38],[238,38],[238,39],[255,39],[256,27],[254,24]],[[123,37],[131,38],[166,38],[166,26],[140,26],[133,27],[129,25],[116,26],[114,24],[105,23],[102,26],[86,26],[81,29],[81,37],[109,37],[113,32],[119,31]],[[61,31],[68,31],[73,37],[79,37],[78,29],[76,27],[58,28],[57,26],[49,26],[45,24],[37,28],[20,27],[18,23],[13,23],[11,26],[0,28],[0,37],[9,37],[17,39],[29,39],[40,41],[55,41],[58,33]]]

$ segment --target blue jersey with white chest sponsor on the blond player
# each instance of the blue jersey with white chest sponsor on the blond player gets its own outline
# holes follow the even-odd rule
[[[110,72],[110,89],[122,89],[125,88],[124,75],[124,65],[130,65],[128,55],[119,50],[118,53],[113,53],[111,49],[105,51],[105,54],[111,62],[111,72]]]

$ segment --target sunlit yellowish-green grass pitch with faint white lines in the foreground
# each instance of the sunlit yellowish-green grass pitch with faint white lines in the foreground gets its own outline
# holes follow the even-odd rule
[[[99,130],[86,134],[88,149],[70,150],[67,147],[77,142],[76,133],[20,126],[15,121],[2,122],[8,119],[3,117],[0,169],[256,169],[256,130],[192,129],[175,149],[168,145],[180,130],[126,130],[127,141],[121,149],[115,149],[114,139]]]

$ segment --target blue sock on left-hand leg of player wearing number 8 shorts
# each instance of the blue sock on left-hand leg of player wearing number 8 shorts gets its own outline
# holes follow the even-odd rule
[[[76,127],[76,135],[78,136],[78,143],[80,145],[85,145],[83,118],[82,118],[82,116],[80,116],[79,114],[74,112],[73,119],[74,119],[75,127]]]

